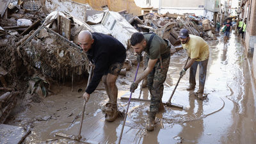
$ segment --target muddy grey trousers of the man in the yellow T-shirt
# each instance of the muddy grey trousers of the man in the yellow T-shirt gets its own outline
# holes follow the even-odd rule
[[[204,61],[195,61],[189,68],[189,84],[190,86],[196,85],[196,69],[199,65],[199,90],[200,93],[204,93],[204,84],[207,72],[208,59]]]

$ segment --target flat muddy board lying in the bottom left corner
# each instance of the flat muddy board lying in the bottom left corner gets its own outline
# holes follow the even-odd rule
[[[23,127],[0,124],[0,143],[22,143],[30,132],[31,129],[26,130]]]

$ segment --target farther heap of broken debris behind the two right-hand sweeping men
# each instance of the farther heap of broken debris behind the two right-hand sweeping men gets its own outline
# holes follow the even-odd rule
[[[194,16],[177,15],[168,12],[163,15],[147,13],[132,17],[129,22],[138,31],[157,33],[162,38],[169,40],[173,46],[180,45],[178,35],[182,28],[188,29],[190,34],[201,36],[205,40],[216,39],[214,35],[215,29],[210,21]]]

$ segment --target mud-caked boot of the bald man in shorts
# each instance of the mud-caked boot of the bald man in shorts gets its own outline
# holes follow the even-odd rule
[[[118,111],[117,111],[117,105],[116,104],[111,104],[107,103],[106,108],[105,108],[105,120],[108,122],[113,122],[116,120],[118,116]]]

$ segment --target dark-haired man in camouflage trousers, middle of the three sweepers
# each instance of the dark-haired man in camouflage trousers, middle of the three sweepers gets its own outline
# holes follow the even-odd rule
[[[163,83],[166,79],[170,63],[170,48],[163,38],[152,33],[134,33],[131,36],[131,45],[134,52],[137,54],[141,54],[142,51],[146,52],[145,65],[147,68],[138,76],[136,81],[131,84],[130,91],[134,92],[134,90],[138,88],[138,83],[140,83],[144,77],[147,77],[148,90],[151,95],[147,130],[153,131],[156,113],[161,107],[164,90]]]

